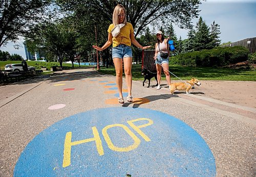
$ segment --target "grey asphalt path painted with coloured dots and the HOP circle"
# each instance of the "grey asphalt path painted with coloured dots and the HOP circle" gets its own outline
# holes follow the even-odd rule
[[[124,105],[93,69],[0,87],[0,176],[255,176],[255,94],[153,84]]]

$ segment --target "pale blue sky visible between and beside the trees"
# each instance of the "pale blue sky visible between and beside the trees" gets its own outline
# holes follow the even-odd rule
[[[220,25],[220,40],[224,42],[236,42],[246,38],[256,37],[256,0],[207,0],[199,6],[199,17],[205,20],[208,27],[215,21]],[[194,26],[198,18],[193,19]],[[179,38],[187,38],[187,30],[179,29],[174,25],[175,33]],[[23,39],[17,41],[22,45],[19,49],[9,42],[0,50],[10,54],[18,54],[26,59]]]

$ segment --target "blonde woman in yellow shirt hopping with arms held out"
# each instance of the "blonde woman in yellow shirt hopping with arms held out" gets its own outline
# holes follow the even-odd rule
[[[117,25],[120,25],[117,27]],[[123,26],[124,25],[124,26]],[[114,29],[115,28],[115,29]],[[117,29],[116,29],[117,28]],[[109,27],[108,41],[102,46],[93,45],[93,48],[101,51],[108,48],[113,43],[112,58],[116,70],[116,84],[119,92],[118,102],[124,104],[122,94],[122,63],[124,67],[125,80],[127,84],[128,96],[127,102],[132,103],[132,61],[133,54],[131,44],[133,43],[141,49],[147,49],[151,46],[142,46],[134,37],[134,30],[131,23],[126,22],[126,11],[122,5],[117,5],[113,12],[113,24]],[[117,33],[115,33],[117,32]],[[115,37],[114,37],[115,36]]]

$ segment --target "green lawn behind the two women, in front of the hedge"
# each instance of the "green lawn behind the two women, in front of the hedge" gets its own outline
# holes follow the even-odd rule
[[[256,71],[250,69],[229,69],[219,67],[190,67],[190,66],[169,66],[169,71],[182,80],[190,80],[191,77],[204,81],[256,81]],[[99,72],[115,75],[114,67],[100,67]],[[123,73],[124,75],[124,73]],[[133,80],[143,81],[141,65],[132,65]],[[179,80],[171,75],[172,80]],[[162,73],[162,80],[165,75]]]

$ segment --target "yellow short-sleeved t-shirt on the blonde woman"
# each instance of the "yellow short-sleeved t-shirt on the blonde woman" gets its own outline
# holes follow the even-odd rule
[[[111,33],[111,31],[114,28],[114,24],[112,23],[109,27],[108,32]],[[131,23],[126,22],[125,26],[120,29],[120,33],[117,35],[117,37],[112,38],[113,47],[116,47],[119,44],[125,44],[127,46],[131,46],[131,39],[130,34],[134,33],[133,26]]]

